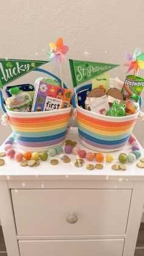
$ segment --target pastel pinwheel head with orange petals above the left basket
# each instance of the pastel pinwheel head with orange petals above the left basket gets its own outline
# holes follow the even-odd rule
[[[56,60],[56,62],[65,61],[65,54],[68,52],[68,46],[63,45],[63,38],[59,37],[56,41],[56,45],[54,43],[49,43],[49,47],[51,51],[49,54],[49,61],[52,62]]]

